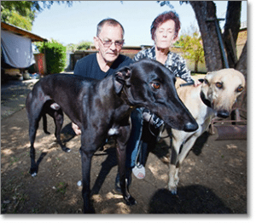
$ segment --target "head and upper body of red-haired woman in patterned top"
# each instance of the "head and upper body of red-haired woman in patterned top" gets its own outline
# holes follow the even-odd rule
[[[197,86],[200,83],[192,79],[183,57],[170,51],[172,44],[177,41],[179,30],[180,20],[176,13],[168,11],[158,15],[150,29],[154,47],[143,49],[135,55],[133,60],[137,61],[145,57],[157,60],[172,71],[176,77],[181,77],[187,83],[194,83]]]

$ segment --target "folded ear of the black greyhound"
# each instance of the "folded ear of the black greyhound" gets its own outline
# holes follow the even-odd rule
[[[131,86],[130,77],[131,68],[128,66],[121,68],[113,74],[113,87],[116,94],[119,94],[125,85],[127,87]]]

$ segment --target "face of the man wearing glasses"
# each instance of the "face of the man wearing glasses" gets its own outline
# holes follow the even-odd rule
[[[95,38],[96,49],[107,63],[113,63],[120,54],[123,46],[123,31],[120,26],[105,24],[99,37]]]

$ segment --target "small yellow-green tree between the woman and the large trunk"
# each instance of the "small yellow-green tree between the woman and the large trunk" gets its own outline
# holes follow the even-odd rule
[[[204,62],[205,56],[199,32],[195,31],[192,37],[189,35],[181,36],[178,44],[183,49],[183,57],[195,62],[195,72],[198,72],[198,64]]]

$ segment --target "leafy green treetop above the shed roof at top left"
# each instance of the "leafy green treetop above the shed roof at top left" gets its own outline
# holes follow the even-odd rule
[[[1,21],[32,31],[36,15],[53,3],[72,5],[72,1],[1,1]]]

